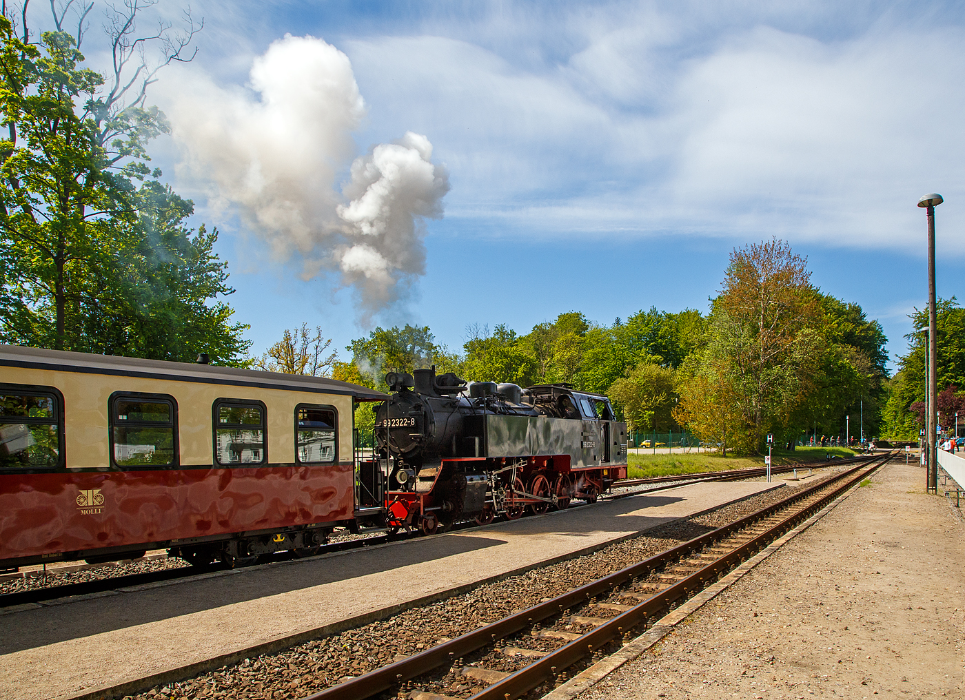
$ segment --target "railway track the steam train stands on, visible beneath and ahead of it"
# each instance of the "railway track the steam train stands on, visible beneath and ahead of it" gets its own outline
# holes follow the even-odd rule
[[[853,459],[846,460],[835,460],[834,464],[844,465],[852,462],[862,462],[870,459],[870,457],[857,457]],[[805,463],[799,465],[792,465],[789,467],[775,467],[771,469],[771,473],[786,473],[793,471],[795,469],[808,469],[817,467],[826,467],[828,462],[814,462]],[[632,486],[648,486],[650,488],[643,488],[635,491],[622,492],[619,494],[611,494],[602,497],[604,500],[610,500],[614,498],[627,498],[630,496],[637,496],[639,494],[652,493],[654,491],[659,491],[662,488],[676,488],[677,486],[682,486],[686,484],[700,483],[703,481],[738,481],[740,479],[746,478],[756,478],[762,476],[766,473],[766,469],[754,468],[745,470],[732,470],[727,472],[720,471],[703,471],[693,474],[677,474],[676,476],[657,476],[647,479],[623,479],[614,484],[615,487],[632,487]],[[663,486],[662,486],[663,485]],[[574,503],[573,505],[578,505]],[[582,505],[582,503],[580,504]],[[570,506],[573,507],[573,506]],[[452,530],[461,530],[475,527],[472,522],[461,523],[454,525]],[[319,550],[318,554],[327,554],[332,552],[345,552],[346,550],[362,549],[365,547],[372,547],[375,545],[381,545],[388,542],[398,542],[403,539],[409,539],[412,537],[420,536],[419,531],[412,532],[400,532],[397,534],[373,534],[372,537],[367,537],[365,539],[349,540],[343,542],[334,542],[328,545],[324,545]],[[277,554],[264,555],[259,561],[259,564],[267,564],[278,561],[286,561],[293,558],[290,552],[279,552]],[[140,574],[127,574],[115,577],[106,577],[104,579],[95,579],[88,581],[80,581],[76,583],[66,583],[61,585],[51,585],[51,586],[41,586],[37,588],[30,588],[23,591],[14,591],[12,593],[0,594],[0,609],[12,606],[21,606],[28,604],[43,604],[49,601],[60,601],[64,598],[85,596],[96,593],[103,593],[105,591],[115,591],[134,588],[136,586],[148,585],[151,583],[158,583],[163,581],[173,581],[178,579],[187,579],[193,576],[198,576],[201,574],[207,574],[217,571],[229,571],[229,567],[221,564],[212,564],[204,567],[198,566],[186,566],[180,569],[164,569],[154,572],[145,572]]]

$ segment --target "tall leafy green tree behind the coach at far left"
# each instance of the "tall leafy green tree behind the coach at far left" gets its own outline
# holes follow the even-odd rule
[[[154,177],[156,108],[115,110],[65,32],[40,45],[0,17],[0,251],[5,342],[181,362],[243,364],[247,326],[217,232],[187,229],[192,202]],[[82,109],[78,109],[78,103]],[[109,104],[110,103],[110,104]],[[147,181],[145,181],[147,179]]]

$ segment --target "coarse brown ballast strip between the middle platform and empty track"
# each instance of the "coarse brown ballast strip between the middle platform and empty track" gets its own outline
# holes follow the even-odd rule
[[[813,480],[808,485],[811,483]],[[305,697],[346,676],[358,676],[389,661],[410,656],[442,638],[469,632],[510,612],[535,605],[541,599],[560,595],[674,547],[708,529],[731,523],[786,498],[797,488],[801,486],[758,494],[682,523],[661,525],[648,530],[646,536],[616,543],[593,554],[484,584],[447,601],[413,608],[390,619],[316,639],[280,654],[262,655],[193,679],[154,687],[147,693],[127,696],[127,700],[133,697],[138,700]],[[446,694],[454,692],[449,689]],[[466,687],[457,694],[468,697],[472,692],[472,687]]]

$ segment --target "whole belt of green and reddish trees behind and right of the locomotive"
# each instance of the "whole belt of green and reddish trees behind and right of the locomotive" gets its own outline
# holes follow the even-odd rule
[[[352,341],[351,362],[336,363],[334,376],[384,390],[387,368],[434,363],[476,381],[566,383],[609,395],[631,429],[686,426],[723,455],[756,453],[767,433],[798,440],[815,423],[843,437],[844,416],[862,400],[868,433],[895,384],[886,338],[860,306],[809,277],[784,242],[764,241],[734,250],[709,316],[651,307],[607,326],[571,310],[525,336],[505,324],[491,334],[469,327],[461,357],[428,328],[379,328]]]

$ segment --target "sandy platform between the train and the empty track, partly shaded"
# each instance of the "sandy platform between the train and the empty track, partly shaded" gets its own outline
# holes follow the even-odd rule
[[[273,641],[295,643],[352,618],[378,619],[781,486],[692,484],[13,612],[0,616],[0,697],[69,698]]]

